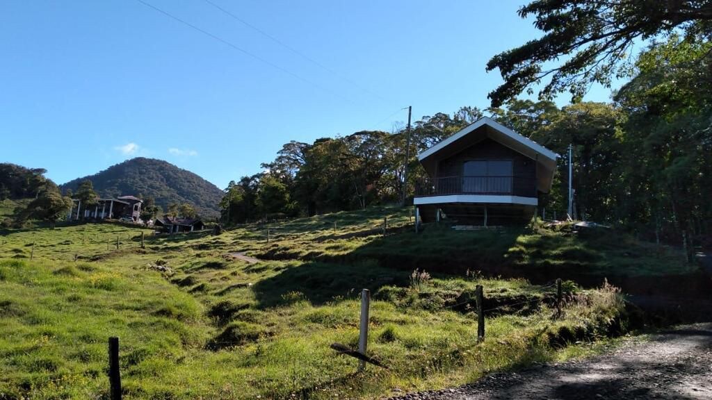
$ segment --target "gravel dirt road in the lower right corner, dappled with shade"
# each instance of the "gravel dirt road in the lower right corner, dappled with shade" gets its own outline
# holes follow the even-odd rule
[[[712,399],[712,323],[661,332],[578,362],[491,374],[394,399]]]

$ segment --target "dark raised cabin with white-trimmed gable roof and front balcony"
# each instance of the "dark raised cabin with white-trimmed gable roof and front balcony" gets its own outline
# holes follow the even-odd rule
[[[523,225],[551,189],[558,154],[488,117],[418,155],[428,174],[413,203],[419,221]]]

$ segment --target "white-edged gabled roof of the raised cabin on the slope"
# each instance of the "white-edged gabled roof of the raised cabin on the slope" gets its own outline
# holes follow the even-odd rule
[[[418,160],[426,172],[431,177],[434,177],[437,163],[440,159],[450,157],[487,138],[535,160],[537,162],[538,190],[549,191],[556,171],[556,159],[559,154],[527,137],[519,135],[490,117],[482,117],[476,120],[446,140],[418,154]]]

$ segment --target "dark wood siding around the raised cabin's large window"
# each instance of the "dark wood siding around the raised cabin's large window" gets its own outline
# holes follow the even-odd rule
[[[482,140],[457,154],[439,160],[436,181],[440,181],[441,184],[458,181],[463,175],[464,162],[486,159],[511,160],[513,171],[512,194],[524,197],[537,196],[536,162],[491,139]]]

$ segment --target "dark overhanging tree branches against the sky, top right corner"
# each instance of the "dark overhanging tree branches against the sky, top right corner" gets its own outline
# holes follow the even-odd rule
[[[534,0],[519,9],[535,16],[543,37],[491,58],[504,83],[489,93],[493,107],[549,79],[540,98],[568,90],[574,99],[597,82],[627,74],[627,59],[637,39],[682,31],[686,36],[712,35],[712,0]],[[557,63],[563,59],[563,62]],[[548,68],[548,63],[556,66]]]

